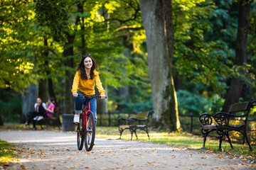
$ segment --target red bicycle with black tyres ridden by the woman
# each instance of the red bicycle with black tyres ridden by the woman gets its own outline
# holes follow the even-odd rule
[[[82,108],[82,113],[80,114],[80,123],[78,123],[78,149],[82,150],[83,143],[85,142],[85,149],[87,152],[92,150],[92,147],[95,142],[95,128],[96,128],[96,122],[95,122],[95,116],[90,111],[90,99],[92,98],[100,98],[100,96],[82,96],[78,95],[80,98],[85,98],[85,106]],[[107,98],[107,96],[106,96]],[[87,105],[86,105],[87,103]]]

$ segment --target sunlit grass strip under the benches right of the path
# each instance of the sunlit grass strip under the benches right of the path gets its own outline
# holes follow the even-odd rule
[[[117,127],[97,127],[97,137],[104,137],[111,140],[119,139],[119,130]],[[154,142],[156,144],[173,145],[174,147],[186,147],[191,149],[201,149],[203,146],[203,137],[201,135],[193,135],[188,132],[149,132],[149,138],[144,131],[137,132],[138,140],[145,142]],[[131,133],[129,130],[124,130],[122,134],[122,140],[130,140]],[[137,140],[136,136],[133,135],[132,140]],[[218,152],[219,140],[216,137],[208,137],[206,140],[206,148],[212,152]],[[233,148],[230,148],[228,142],[222,144],[223,152],[227,154],[247,154],[250,157],[256,158],[256,147],[252,146],[253,151],[249,152],[247,145],[234,144]]]

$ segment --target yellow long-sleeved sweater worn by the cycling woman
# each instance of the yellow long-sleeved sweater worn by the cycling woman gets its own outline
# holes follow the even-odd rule
[[[105,94],[105,90],[102,87],[102,83],[100,81],[99,72],[94,71],[95,77],[94,79],[81,79],[80,72],[75,73],[75,78],[73,80],[73,86],[71,89],[72,93],[76,93],[78,91],[82,92],[85,96],[95,95],[95,83],[100,94]]]

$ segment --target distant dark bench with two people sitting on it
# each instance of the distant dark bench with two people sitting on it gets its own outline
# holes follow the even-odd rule
[[[36,120],[36,124],[39,124],[41,126],[41,130],[43,130],[43,124],[46,124],[47,126],[50,125],[50,123],[53,123],[53,125],[58,125],[58,128],[60,130],[60,111],[59,107],[54,108],[54,113],[50,115],[48,118],[43,118],[40,120]],[[30,125],[28,125],[28,128],[30,128]]]

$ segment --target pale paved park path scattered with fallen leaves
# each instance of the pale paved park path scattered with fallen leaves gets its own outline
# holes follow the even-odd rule
[[[150,142],[96,138],[79,151],[75,132],[0,130],[20,156],[6,169],[255,169],[255,161]]]

